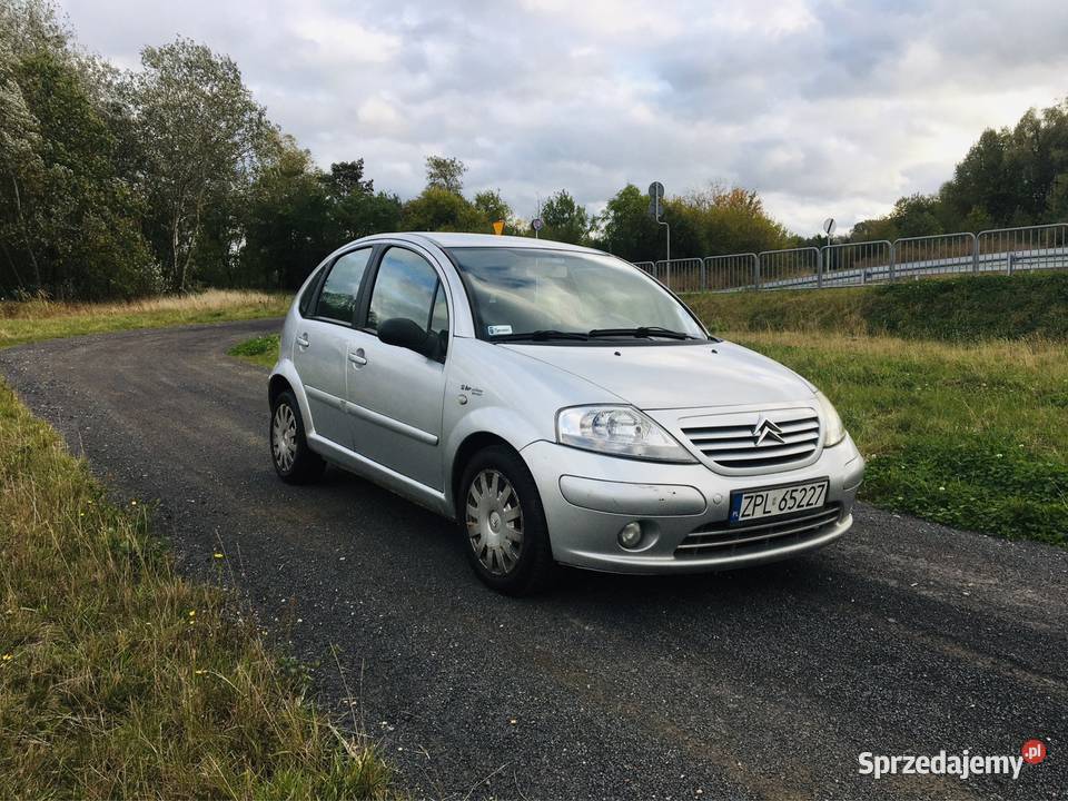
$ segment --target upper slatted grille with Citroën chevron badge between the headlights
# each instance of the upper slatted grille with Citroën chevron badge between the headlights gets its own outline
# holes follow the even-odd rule
[[[756,444],[753,428],[761,417],[778,426],[779,438]],[[813,461],[820,446],[820,418],[813,409],[781,409],[705,417],[716,425],[682,426],[682,433],[713,467],[728,472],[772,472]]]

